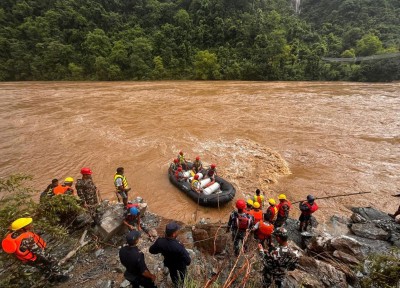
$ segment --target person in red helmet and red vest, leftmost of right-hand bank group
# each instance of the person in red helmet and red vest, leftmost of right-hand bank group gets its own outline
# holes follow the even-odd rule
[[[242,249],[240,243],[245,242],[246,232],[250,229],[252,225],[251,216],[244,212],[246,208],[246,202],[239,199],[236,201],[237,211],[233,211],[229,215],[227,231],[232,231],[232,241],[235,251],[235,255],[238,256],[240,250]],[[244,251],[247,250],[247,244],[243,244]]]

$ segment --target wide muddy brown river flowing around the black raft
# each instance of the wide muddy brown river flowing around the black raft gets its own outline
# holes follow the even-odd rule
[[[216,163],[236,198],[256,188],[292,201],[372,192],[318,201],[321,222],[351,205],[400,204],[390,197],[400,192],[400,83],[0,83],[0,119],[0,176],[30,174],[38,194],[88,166],[102,198],[115,201],[123,166],[131,198],[193,223],[196,203],[167,177],[182,149]],[[201,207],[197,220],[225,221],[231,204]]]

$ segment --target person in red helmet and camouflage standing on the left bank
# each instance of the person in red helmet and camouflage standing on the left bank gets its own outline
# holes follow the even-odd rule
[[[84,167],[81,169],[82,179],[75,184],[76,193],[93,219],[96,217],[96,206],[99,204],[99,190],[93,183],[92,170]]]

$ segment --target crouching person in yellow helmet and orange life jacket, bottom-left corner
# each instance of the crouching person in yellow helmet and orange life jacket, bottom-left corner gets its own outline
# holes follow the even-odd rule
[[[49,281],[69,279],[61,273],[57,260],[45,250],[46,242],[32,232],[32,218],[15,220],[10,230],[1,243],[6,253],[14,254],[23,264],[36,267]]]

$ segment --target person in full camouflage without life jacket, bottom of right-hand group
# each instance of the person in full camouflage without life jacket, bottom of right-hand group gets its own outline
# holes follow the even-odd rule
[[[263,283],[262,287],[270,287],[272,282],[274,287],[286,287],[287,271],[296,269],[299,259],[297,255],[288,246],[288,232],[285,228],[276,228],[273,232],[278,247],[270,246],[268,250],[264,250],[259,245],[260,255],[262,257],[263,268]]]

